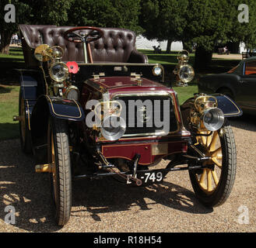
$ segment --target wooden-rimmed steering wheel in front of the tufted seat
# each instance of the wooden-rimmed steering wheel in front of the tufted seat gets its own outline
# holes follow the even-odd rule
[[[76,32],[76,31],[80,32]],[[87,30],[82,31],[82,30]],[[95,40],[99,40],[103,36],[103,31],[99,28],[92,26],[77,26],[72,29],[68,29],[64,33],[65,40],[74,43],[90,43]]]

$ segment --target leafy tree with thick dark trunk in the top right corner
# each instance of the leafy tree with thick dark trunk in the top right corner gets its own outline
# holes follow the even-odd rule
[[[250,22],[240,23],[239,0],[194,0],[190,1],[186,12],[187,26],[183,41],[196,43],[195,69],[205,69],[212,60],[212,52],[218,42],[247,44],[255,40],[255,6],[254,0],[245,0],[249,5]]]

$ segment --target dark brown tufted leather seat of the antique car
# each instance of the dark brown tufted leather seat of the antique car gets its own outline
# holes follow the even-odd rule
[[[72,43],[64,39],[63,34],[72,26],[19,25],[22,35],[23,53],[28,67],[37,65],[33,50],[40,44],[50,47],[60,46],[64,49],[63,61],[83,62],[82,43]],[[93,62],[114,63],[148,63],[146,55],[135,48],[135,33],[128,29],[101,28],[100,40],[89,43]]]

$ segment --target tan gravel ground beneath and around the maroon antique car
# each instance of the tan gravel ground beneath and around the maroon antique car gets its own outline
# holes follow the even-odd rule
[[[2,141],[0,232],[255,232],[255,123],[252,117],[231,121],[237,177],[224,205],[202,206],[187,171],[146,188],[109,179],[75,181],[71,219],[62,229],[54,224],[48,175],[34,173],[33,158],[21,153],[19,140]],[[8,205],[16,210],[14,225],[5,223]]]

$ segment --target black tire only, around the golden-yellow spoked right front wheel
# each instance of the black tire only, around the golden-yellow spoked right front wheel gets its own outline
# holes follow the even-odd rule
[[[236,177],[237,168],[237,151],[233,136],[233,131],[228,120],[225,120],[223,127],[219,129],[219,140],[222,147],[222,170],[219,177],[219,184],[212,194],[208,195],[198,184],[196,171],[189,171],[192,187],[195,195],[203,205],[207,207],[214,207],[222,205],[226,202],[232,191],[233,184]],[[221,133],[223,133],[221,135]]]

